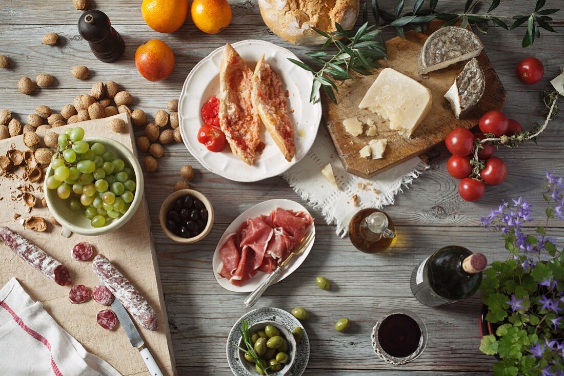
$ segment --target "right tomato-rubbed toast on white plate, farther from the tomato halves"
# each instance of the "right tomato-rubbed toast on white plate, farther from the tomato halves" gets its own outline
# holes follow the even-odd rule
[[[274,142],[288,162],[296,153],[294,126],[288,116],[288,104],[282,91],[282,80],[265,61],[258,61],[253,75],[253,103]]]

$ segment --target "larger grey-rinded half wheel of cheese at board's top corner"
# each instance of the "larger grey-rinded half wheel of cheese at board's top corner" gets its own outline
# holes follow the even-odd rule
[[[419,74],[427,74],[476,57],[484,45],[480,38],[459,26],[440,28],[427,38],[417,59]]]

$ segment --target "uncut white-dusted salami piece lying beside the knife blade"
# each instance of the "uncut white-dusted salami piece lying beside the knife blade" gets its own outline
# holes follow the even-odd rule
[[[158,320],[153,308],[104,255],[99,254],[94,258],[92,270],[120,300],[139,325],[148,330],[157,330]]]

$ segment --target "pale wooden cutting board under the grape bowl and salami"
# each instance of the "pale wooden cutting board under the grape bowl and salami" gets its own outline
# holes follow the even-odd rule
[[[114,117],[124,119],[129,123],[127,132],[115,133],[109,129],[108,123]],[[127,148],[135,152],[131,121],[127,114],[114,117],[91,120],[80,123],[84,128],[86,137],[104,136],[120,141]],[[73,124],[76,127],[79,124]],[[57,133],[63,132],[68,126],[52,129]],[[47,131],[39,131],[42,138]],[[5,155],[8,149],[14,147],[24,151],[27,149],[23,143],[23,136],[16,136],[0,141],[0,155]],[[21,176],[22,169],[16,171]],[[42,193],[38,190],[41,184],[33,184],[32,192],[37,197],[37,205],[30,213],[23,201],[13,201],[11,196],[19,192],[17,187],[24,184],[24,180],[0,177],[0,225],[10,227],[28,238],[47,254],[53,256],[69,269],[74,284],[83,284],[89,287],[99,285],[98,278],[92,272],[91,260],[78,262],[70,256],[74,244],[80,241],[90,242],[94,247],[94,254],[102,253],[137,289],[147,298],[151,307],[158,316],[158,330],[152,332],[137,325],[147,347],[153,353],[157,364],[165,375],[176,373],[174,356],[172,352],[168,319],[160,277],[158,275],[157,258],[153,238],[151,235],[151,222],[147,203],[143,198],[142,205],[135,215],[123,227],[116,231],[98,236],[89,237],[73,234],[69,238],[61,236],[61,226],[49,223],[46,232],[34,232],[24,229],[20,223],[21,218],[30,215],[39,215],[50,218],[49,210],[41,205]],[[20,214],[20,219],[14,219],[15,214]],[[43,276],[41,272],[20,259],[12,250],[0,242],[0,287],[5,285],[11,277],[16,277],[25,291],[33,300],[41,301],[46,311],[70,333],[87,351],[98,355],[123,375],[148,375],[149,372],[139,355],[139,351],[131,347],[121,326],[118,324],[113,330],[103,329],[96,322],[96,313],[103,308],[92,298],[85,303],[72,304],[68,299],[70,286],[59,286],[54,281]]]

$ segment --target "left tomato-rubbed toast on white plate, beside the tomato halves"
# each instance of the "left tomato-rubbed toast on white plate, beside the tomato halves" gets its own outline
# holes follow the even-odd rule
[[[253,165],[261,144],[259,118],[252,101],[253,71],[229,44],[219,71],[219,126],[233,154]]]

